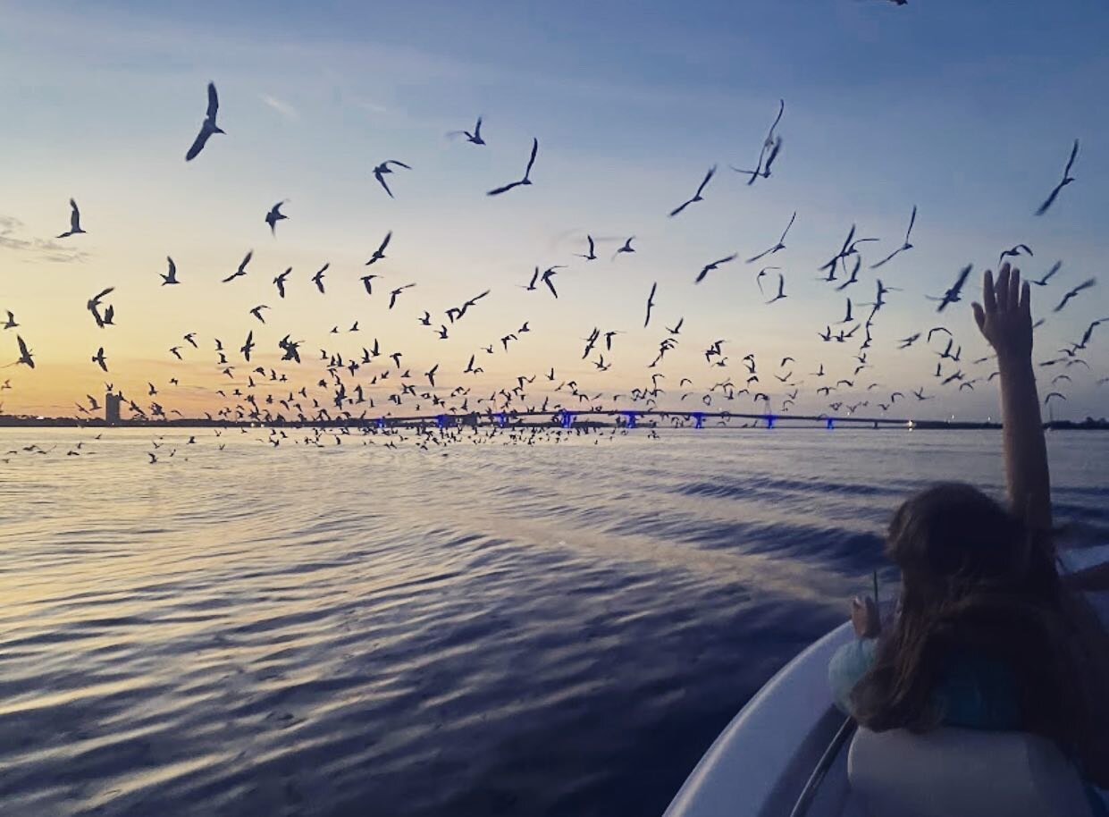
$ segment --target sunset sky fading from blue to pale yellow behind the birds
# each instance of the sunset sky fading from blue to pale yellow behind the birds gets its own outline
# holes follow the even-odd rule
[[[244,388],[251,365],[237,349],[248,330],[255,362],[277,367],[276,341],[303,340],[304,362],[285,364],[288,384],[255,391],[258,399],[289,387],[315,388],[321,349],[360,358],[378,338],[384,353],[348,388],[367,387],[376,408],[434,409],[399,391],[396,374],[373,389],[374,374],[401,351],[418,391],[438,364],[437,394],[472,387],[477,397],[539,375],[517,407],[541,402],[562,380],[606,406],[613,394],[650,386],[662,372],[660,405],[700,408],[714,382],[746,380],[741,358],[752,353],[776,410],[792,390],[774,375],[793,371],[794,412],[879,399],[923,387],[937,399],[912,397],[891,413],[915,417],[996,416],[996,380],[977,337],[969,302],[998,253],[1028,244],[1020,266],[1041,276],[1064,262],[1046,287],[1034,287],[1036,360],[1060,357],[1090,321],[1109,317],[1109,278],[1050,312],[1070,287],[1100,276],[1109,213],[1109,8],[1101,0],[712,0],[643,2],[193,2],[153,4],[4,3],[0,25],[0,366],[16,360],[16,335],[33,349],[37,368],[7,366],[0,384],[4,413],[70,415],[75,401],[101,396],[105,381],[147,405],[147,382],[167,409],[186,415],[233,407],[215,389]],[[220,91],[220,125],[193,162],[184,161],[204,118],[206,84]],[[753,186],[730,164],[751,166],[777,111],[783,149],[770,178]],[[447,139],[484,115],[487,145]],[[539,140],[533,184],[488,197],[517,180],[531,139]],[[1070,146],[1081,141],[1077,181],[1044,216],[1036,207],[1061,177]],[[396,198],[372,170],[400,160],[413,170],[388,177]],[[675,218],[668,213],[693,195],[718,165],[704,201]],[[68,228],[69,198],[81,207],[85,235],[55,239]],[[272,236],[263,218],[288,200],[288,216]],[[914,205],[915,248],[881,270],[868,267],[901,245]],[[796,211],[787,248],[762,264],[744,258],[772,246]],[[865,264],[843,293],[818,280],[855,223]],[[388,231],[387,258],[364,264]],[[597,239],[598,261],[586,252]],[[612,261],[634,235],[634,254]],[[230,284],[248,249],[248,275]],[[709,262],[739,253],[694,286]],[[166,255],[179,286],[161,286]],[[329,263],[326,294],[311,283]],[[940,295],[958,270],[975,272],[962,303],[936,315],[925,295]],[[538,265],[564,264],[559,298],[522,287]],[[782,267],[787,298],[767,306],[755,284],[763,264]],[[272,279],[293,273],[285,299]],[[374,294],[359,276],[381,275]],[[767,298],[776,289],[769,274]],[[853,377],[856,341],[825,344],[817,331],[854,324],[868,313],[875,275],[899,288],[876,317],[871,368]],[[841,274],[842,277],[842,274]],[[658,283],[655,312],[643,328],[644,304]],[[388,309],[389,290],[415,283]],[[85,309],[96,292],[118,326],[98,328]],[[444,312],[485,289],[491,294],[448,339],[435,329]],[[250,315],[271,307],[266,324]],[[431,313],[433,327],[419,316]],[[684,317],[679,345],[648,368]],[[357,320],[358,333],[347,329]],[[528,321],[506,354],[499,338]],[[957,391],[934,377],[943,348],[897,339],[945,325],[964,347],[958,365],[980,378]],[[339,334],[330,333],[333,327]],[[582,360],[598,327],[620,330],[607,371]],[[195,331],[199,349],[182,336]],[[233,378],[216,366],[222,339]],[[726,367],[704,350],[718,339]],[[496,354],[482,347],[495,344]],[[603,340],[602,340],[603,344]],[[90,361],[103,346],[110,375]],[[185,360],[169,349],[181,347]],[[1038,367],[1041,395],[1060,391],[1057,417],[1109,413],[1106,350],[1109,324],[1080,353],[1090,368]],[[464,375],[477,354],[479,376]],[[780,368],[784,356],[795,364]],[[823,364],[827,376],[813,372]],[[557,377],[547,381],[551,367]],[[1050,380],[1066,375],[1070,381]],[[681,378],[692,385],[679,388]],[[854,388],[831,397],[815,389],[845,377]],[[176,378],[180,386],[170,385]],[[881,387],[866,391],[872,382]],[[690,392],[684,404],[679,397]],[[551,395],[552,402],[567,395]],[[450,401],[457,406],[461,397]],[[750,411],[749,396],[713,408]],[[691,405],[696,402],[698,406]],[[574,401],[577,405],[577,401]],[[349,407],[358,413],[365,407]]]

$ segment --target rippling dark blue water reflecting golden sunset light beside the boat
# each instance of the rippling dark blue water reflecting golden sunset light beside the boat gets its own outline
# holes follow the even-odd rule
[[[993,432],[92,437],[0,431],[3,814],[659,814],[898,500],[1001,468]],[[1050,446],[1109,542],[1109,435]]]

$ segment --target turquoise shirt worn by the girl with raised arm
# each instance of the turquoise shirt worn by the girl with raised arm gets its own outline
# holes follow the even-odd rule
[[[836,706],[851,715],[851,692],[874,665],[876,639],[856,639],[844,644],[828,662],[828,683]],[[1005,732],[1017,729],[1020,708],[1008,671],[997,662],[964,653],[940,676],[933,701],[947,726]],[[1086,796],[1095,817],[1109,817],[1106,795],[1086,784]]]

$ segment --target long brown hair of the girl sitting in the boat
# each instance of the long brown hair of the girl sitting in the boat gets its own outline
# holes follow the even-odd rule
[[[976,488],[943,483],[902,504],[886,552],[902,570],[901,613],[852,694],[858,722],[876,732],[938,726],[937,684],[957,656],[975,656],[1011,674],[1017,728],[1079,753],[1083,714],[1069,694],[1072,640],[1050,543]]]

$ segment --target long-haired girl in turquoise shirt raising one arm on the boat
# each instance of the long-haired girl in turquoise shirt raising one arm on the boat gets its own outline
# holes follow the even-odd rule
[[[896,619],[854,600],[859,640],[834,655],[840,706],[875,732],[940,725],[1044,735],[1109,788],[1109,637],[1076,591],[1109,589],[1105,566],[1061,578],[1032,372],[1028,284],[987,272],[978,328],[997,351],[1009,507],[963,483],[928,488],[894,514]],[[1095,814],[1109,814],[1096,794]]]

